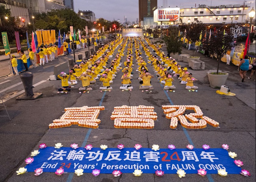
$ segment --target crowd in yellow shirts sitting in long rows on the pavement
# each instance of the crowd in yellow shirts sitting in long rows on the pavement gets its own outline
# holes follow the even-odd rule
[[[148,65],[153,67],[154,73],[158,77],[160,83],[164,84],[165,90],[174,90],[176,87],[172,84],[175,79],[180,81],[180,84],[186,85],[186,89],[198,89],[194,86],[197,81],[192,76],[192,73],[183,68],[174,59],[165,56],[161,49],[153,44],[148,38],[144,42],[141,38],[136,37],[117,37],[116,40],[109,42],[101,47],[87,61],[77,60],[81,62],[70,69],[69,74],[62,72],[58,77],[62,80],[62,88],[59,91],[70,91],[70,85],[75,85],[81,81],[79,91],[91,91],[91,84],[97,80],[102,82],[100,90],[112,90],[110,86],[115,80],[116,75],[121,71],[121,90],[132,90],[131,81],[133,80],[134,64],[138,65],[136,72],[139,74],[140,90],[153,90],[151,78],[154,75],[148,71]],[[134,47],[133,47],[134,46]],[[114,50],[118,48],[118,53],[113,56]],[[125,49],[127,54],[125,56]],[[135,50],[133,53],[133,49]],[[140,50],[142,49],[144,53]],[[155,52],[153,55],[150,49]],[[142,55],[147,57],[147,62],[142,58]],[[125,58],[125,60],[122,60]],[[109,65],[109,66],[108,66]]]

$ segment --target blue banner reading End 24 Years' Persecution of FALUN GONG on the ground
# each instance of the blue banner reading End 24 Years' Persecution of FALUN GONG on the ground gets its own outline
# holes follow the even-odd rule
[[[165,174],[176,174],[178,169],[183,169],[187,174],[196,174],[197,170],[205,169],[208,174],[217,174],[217,170],[226,169],[228,174],[240,174],[241,168],[237,167],[234,159],[229,157],[228,151],[222,148],[214,149],[160,149],[154,151],[149,148],[84,148],[71,147],[46,147],[39,150],[34,161],[26,166],[28,172],[42,168],[44,172],[55,172],[63,168],[65,172],[74,172],[84,169],[91,173],[93,169],[101,173],[110,174],[113,170],[122,173],[133,173],[135,169],[143,173],[155,173],[162,170]]]

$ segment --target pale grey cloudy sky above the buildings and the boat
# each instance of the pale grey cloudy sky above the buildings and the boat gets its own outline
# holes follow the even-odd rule
[[[145,0],[146,1],[146,0]],[[164,0],[158,0],[158,6],[163,6]],[[247,3],[251,2],[251,6],[255,8],[255,0],[247,0]],[[139,18],[139,1],[138,0],[74,0],[75,11],[91,10],[95,13],[96,18],[104,18],[107,20],[120,19],[124,22],[124,16],[128,21],[136,21]],[[181,3],[181,4],[180,4]],[[170,7],[190,6],[195,4],[206,5],[222,5],[222,4],[243,4],[242,0],[167,0],[167,5]],[[166,5],[166,2],[165,2]]]

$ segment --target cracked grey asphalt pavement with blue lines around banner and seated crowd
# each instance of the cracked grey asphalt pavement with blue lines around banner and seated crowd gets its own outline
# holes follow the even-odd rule
[[[140,48],[141,50],[141,48]],[[84,55],[84,50],[78,53]],[[116,55],[117,51],[115,51]],[[126,53],[126,50],[125,50]],[[183,49],[183,54],[192,54],[192,51]],[[61,86],[59,80],[49,81],[48,78],[53,74],[53,66],[67,62],[72,59],[72,55],[61,56],[45,66],[38,66],[31,69],[34,74],[33,84],[37,84],[34,92],[41,92],[43,96],[36,100],[16,100],[18,93],[22,92],[23,85],[20,83],[19,76],[0,78],[0,94],[6,100],[5,105],[11,116],[11,121],[7,117],[2,117],[0,122],[1,144],[0,144],[0,181],[20,182],[20,181],[102,181],[102,182],[126,182],[126,181],[223,181],[241,182],[255,181],[255,77],[252,80],[246,79],[242,83],[236,66],[227,66],[220,63],[220,70],[229,73],[226,85],[230,87],[236,96],[225,96],[216,93],[213,89],[203,82],[206,72],[217,68],[215,59],[202,56],[201,53],[194,53],[200,56],[200,60],[205,62],[205,70],[191,70],[193,76],[199,81],[194,85],[198,86],[198,92],[188,92],[184,85],[178,80],[173,82],[176,92],[163,91],[157,78],[151,79],[154,86],[152,92],[141,92],[139,90],[138,74],[134,72],[132,81],[133,90],[122,92],[121,86],[122,73],[118,73],[112,84],[112,92],[100,92],[100,81],[92,85],[90,93],[79,93],[75,86],[68,94],[58,94],[57,89]],[[146,57],[143,56],[145,59]],[[124,61],[124,58],[122,59]],[[179,62],[181,66],[188,67],[188,63]],[[153,74],[152,67],[147,65],[149,72]],[[135,68],[137,65],[135,64]],[[135,71],[135,69],[134,69]],[[248,76],[248,75],[247,75]],[[7,81],[8,80],[8,81]],[[12,87],[15,85],[14,87]],[[10,88],[12,87],[12,88]],[[4,90],[1,92],[1,90]],[[66,128],[48,129],[49,123],[62,116],[66,107],[98,106],[103,98],[102,106],[105,110],[101,111],[98,119],[101,120],[98,129],[88,129],[73,125]],[[204,129],[187,129],[178,124],[176,130],[170,129],[170,120],[165,118],[161,108],[162,105],[197,105],[201,108],[205,116],[212,118],[220,123],[219,128],[208,125]],[[154,106],[158,120],[155,121],[155,128],[152,130],[142,129],[116,129],[110,116],[115,106]],[[2,109],[1,115],[5,114]],[[187,131],[187,133],[186,133]],[[89,137],[85,140],[85,136]],[[133,174],[122,174],[121,177],[113,177],[112,174],[100,174],[92,177],[89,173],[84,173],[81,177],[73,173],[57,176],[54,173],[43,173],[34,176],[34,173],[16,175],[16,170],[24,167],[24,160],[30,157],[31,151],[38,150],[40,143],[47,146],[54,146],[55,143],[62,143],[64,147],[69,147],[71,143],[77,143],[81,147],[82,143],[93,144],[99,147],[101,144],[115,148],[117,144],[123,143],[125,147],[133,147],[140,143],[143,147],[151,148],[153,144],[158,144],[160,148],[167,148],[168,144],[175,144],[176,148],[186,148],[186,145],[194,143],[196,148],[201,148],[205,143],[212,148],[220,148],[223,143],[229,144],[229,151],[236,152],[239,159],[244,162],[244,169],[251,172],[251,177],[244,177],[238,174],[229,174],[227,177],[220,177],[218,174],[200,177],[198,174],[186,174],[186,177],[179,178],[177,174],[165,174],[157,177],[155,174],[143,174],[141,177],[134,177]]]

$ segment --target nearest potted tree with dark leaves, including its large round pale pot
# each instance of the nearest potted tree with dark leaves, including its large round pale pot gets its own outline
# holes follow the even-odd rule
[[[215,88],[225,85],[229,74],[226,72],[219,72],[219,62],[226,52],[231,50],[232,47],[235,47],[235,45],[234,35],[230,32],[225,34],[218,31],[215,35],[212,35],[209,40],[203,40],[203,44],[200,46],[201,49],[212,51],[217,55],[217,72],[208,72],[211,87]]]

